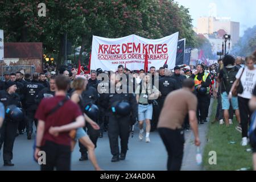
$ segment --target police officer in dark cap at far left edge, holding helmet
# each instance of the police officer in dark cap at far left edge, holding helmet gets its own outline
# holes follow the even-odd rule
[[[13,81],[6,82],[6,90],[0,91],[0,100],[7,108],[7,106],[15,105],[20,106],[20,98],[16,94],[16,83]],[[9,111],[6,110],[6,113]],[[6,116],[1,128],[1,137],[0,137],[0,150],[3,144],[3,162],[4,166],[14,166],[11,163],[13,159],[13,145],[16,136],[16,131],[18,130],[19,121],[15,121],[10,117]]]

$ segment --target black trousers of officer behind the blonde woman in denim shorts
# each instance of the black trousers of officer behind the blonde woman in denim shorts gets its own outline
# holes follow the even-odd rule
[[[87,128],[87,134],[90,138],[90,140],[92,140],[92,143],[94,144],[95,148],[97,147],[97,140],[98,137],[100,137],[100,130],[94,130],[92,126],[90,126],[89,123],[86,123],[86,126],[84,127],[84,130],[86,131]],[[80,142],[79,142],[79,147],[80,147],[80,152],[81,155],[86,156],[87,155],[87,148],[85,146],[83,146]]]

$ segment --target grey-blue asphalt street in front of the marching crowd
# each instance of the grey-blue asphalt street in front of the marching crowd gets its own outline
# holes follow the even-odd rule
[[[200,138],[204,137],[207,125],[200,126]],[[139,141],[138,129],[135,130],[133,138],[129,139],[129,151],[125,161],[118,163],[110,162],[112,155],[110,154],[109,139],[107,133],[104,133],[104,138],[98,139],[98,146],[96,148],[97,160],[100,166],[107,170],[124,170],[124,171],[157,171],[166,170],[167,152],[157,132],[150,134],[150,143]],[[39,165],[32,160],[32,144],[34,142],[35,134],[32,140],[27,140],[26,135],[19,135],[14,143],[14,167],[4,167],[2,155],[0,157],[0,171],[2,170],[39,170]],[[183,170],[200,170],[196,165],[195,156],[196,148],[193,146],[193,134],[191,131],[185,132],[185,153],[183,160]],[[205,138],[205,137],[204,137]],[[203,143],[204,144],[204,143]],[[1,151],[2,154],[2,151]],[[89,160],[80,162],[79,146],[76,145],[72,153],[72,170],[93,170],[92,164]]]

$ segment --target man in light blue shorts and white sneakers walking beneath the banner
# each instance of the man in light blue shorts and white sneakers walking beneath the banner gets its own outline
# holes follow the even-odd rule
[[[150,82],[151,77],[145,75],[140,85],[137,87],[135,94],[138,102],[138,119],[139,119],[139,140],[143,140],[143,122],[146,122],[146,142],[150,142],[150,129],[153,113],[152,100],[156,100],[161,94],[159,90]]]

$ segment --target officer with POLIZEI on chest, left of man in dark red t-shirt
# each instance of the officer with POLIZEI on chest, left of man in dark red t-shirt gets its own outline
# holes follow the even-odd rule
[[[26,116],[27,116],[27,139],[31,139],[31,135],[33,132],[33,121],[34,121],[34,115],[37,109],[36,105],[36,96],[38,96],[38,93],[40,90],[44,88],[42,84],[38,83],[39,75],[38,73],[34,73],[32,75],[32,81],[30,83],[27,83],[24,86],[24,107],[26,108]],[[37,125],[37,121],[35,121],[35,124]]]

